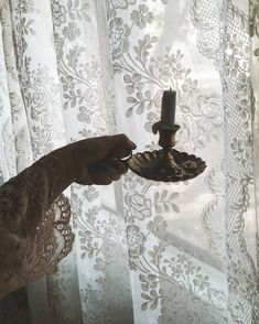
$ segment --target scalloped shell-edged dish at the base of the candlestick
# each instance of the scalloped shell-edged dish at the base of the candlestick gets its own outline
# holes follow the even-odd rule
[[[162,182],[186,181],[206,169],[206,163],[201,158],[174,149],[168,154],[163,150],[137,153],[127,164],[138,175]]]

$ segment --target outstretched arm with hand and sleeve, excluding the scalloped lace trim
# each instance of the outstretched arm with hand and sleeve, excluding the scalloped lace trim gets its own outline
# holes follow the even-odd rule
[[[43,156],[0,187],[0,298],[35,280],[37,253],[53,230],[47,210],[62,192],[73,182],[118,180],[127,172],[119,158],[134,148],[123,134],[82,140]]]

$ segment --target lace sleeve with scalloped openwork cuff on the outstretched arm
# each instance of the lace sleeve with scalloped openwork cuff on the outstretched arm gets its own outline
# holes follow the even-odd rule
[[[55,271],[71,251],[67,183],[46,155],[0,187],[0,296]]]

